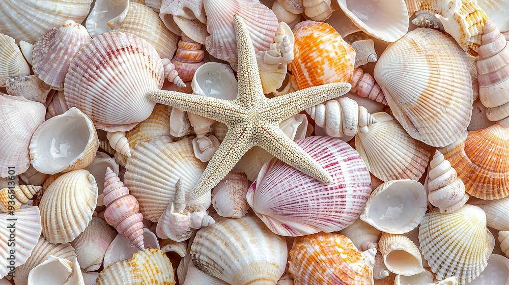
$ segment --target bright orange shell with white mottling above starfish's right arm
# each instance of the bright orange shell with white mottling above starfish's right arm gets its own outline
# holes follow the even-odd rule
[[[299,89],[332,82],[350,82],[355,50],[333,27],[323,22],[303,21],[295,35],[292,74]]]

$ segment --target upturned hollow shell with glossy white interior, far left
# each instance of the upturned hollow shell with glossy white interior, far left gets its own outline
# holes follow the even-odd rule
[[[98,148],[94,124],[74,107],[44,122],[32,136],[29,147],[32,165],[45,174],[87,167],[94,161]]]

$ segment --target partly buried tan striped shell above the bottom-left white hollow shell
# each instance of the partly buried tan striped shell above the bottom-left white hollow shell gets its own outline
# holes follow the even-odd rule
[[[27,285],[30,270],[48,259],[49,255],[63,258],[68,261],[74,260],[76,258],[74,248],[69,243],[54,244],[50,243],[43,236],[41,236],[39,237],[39,240],[37,241],[32,254],[26,260],[26,262],[16,267],[14,283],[16,283],[16,285]]]

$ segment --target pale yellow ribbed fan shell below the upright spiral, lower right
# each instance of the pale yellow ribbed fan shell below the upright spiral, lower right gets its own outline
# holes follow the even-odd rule
[[[438,208],[426,214],[419,228],[422,255],[436,278],[456,276],[470,282],[486,268],[495,240],[486,228],[486,214],[466,204],[454,213]]]

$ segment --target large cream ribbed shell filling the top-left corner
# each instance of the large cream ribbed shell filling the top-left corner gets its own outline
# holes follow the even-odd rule
[[[92,0],[2,0],[0,31],[16,39],[35,44],[53,27],[67,20],[81,23],[90,10]],[[28,74],[26,74],[28,75]]]

